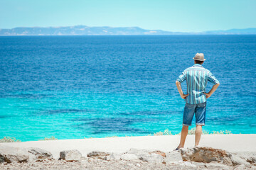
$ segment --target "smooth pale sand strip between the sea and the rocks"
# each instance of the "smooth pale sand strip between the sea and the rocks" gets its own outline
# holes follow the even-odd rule
[[[193,147],[195,135],[188,135],[185,147]],[[78,149],[82,156],[92,151],[126,152],[130,148],[152,149],[169,152],[178,146],[179,135],[105,137],[82,140],[50,140],[1,143],[11,147],[39,147],[46,149],[58,159],[63,150]],[[225,149],[229,152],[256,152],[256,134],[250,135],[202,135],[201,147]]]

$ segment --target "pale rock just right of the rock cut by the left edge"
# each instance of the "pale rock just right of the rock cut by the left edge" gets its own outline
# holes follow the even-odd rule
[[[53,159],[53,155],[50,152],[37,147],[29,147],[28,153],[29,161],[42,162],[44,159]]]

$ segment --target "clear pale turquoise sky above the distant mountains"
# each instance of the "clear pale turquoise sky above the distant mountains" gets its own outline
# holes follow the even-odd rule
[[[256,0],[1,0],[0,28],[138,26],[200,32],[256,28]]]

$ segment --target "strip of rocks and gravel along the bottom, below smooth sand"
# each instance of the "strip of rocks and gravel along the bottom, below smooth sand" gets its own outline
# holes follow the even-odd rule
[[[57,160],[40,148],[0,145],[0,169],[256,169],[256,153],[211,147],[171,152],[131,148],[124,153],[95,151],[82,157],[78,150],[66,150]]]

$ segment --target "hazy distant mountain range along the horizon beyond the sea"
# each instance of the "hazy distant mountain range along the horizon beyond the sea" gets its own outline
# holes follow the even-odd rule
[[[171,32],[165,30],[145,30],[139,27],[18,27],[0,29],[0,35],[238,35],[256,34],[256,28],[212,30],[200,33]]]

